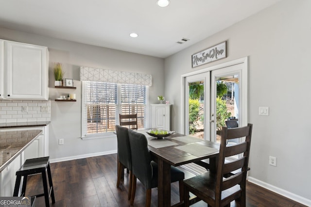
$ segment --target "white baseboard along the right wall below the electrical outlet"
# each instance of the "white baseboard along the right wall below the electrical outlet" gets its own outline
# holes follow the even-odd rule
[[[280,189],[280,188],[278,188],[276,186],[273,186],[273,185],[271,185],[269,183],[265,183],[265,182],[263,182],[261,180],[258,180],[258,179],[254,178],[254,177],[250,177],[249,176],[248,177],[248,181],[251,182],[251,183],[254,183],[256,185],[259,185],[262,188],[265,188],[265,189],[267,189],[269,191],[273,191],[273,192],[275,192],[277,194],[285,196],[285,197],[287,197],[287,198],[289,198],[291,200],[294,200],[294,201],[296,201],[296,202],[298,202],[300,204],[303,204],[303,205],[306,205],[308,207],[311,207],[311,200],[310,199],[304,198],[304,197],[302,197],[300,195],[296,195],[296,194],[294,194],[292,192],[289,192],[289,191],[285,191],[285,190]]]

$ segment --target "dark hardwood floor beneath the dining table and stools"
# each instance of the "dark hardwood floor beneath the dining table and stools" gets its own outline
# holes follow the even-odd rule
[[[129,207],[127,200],[128,174],[125,173],[124,183],[116,187],[117,154],[76,159],[51,163],[52,179],[56,203],[52,207]],[[185,177],[194,176],[182,169]],[[26,196],[43,192],[42,178],[33,175],[28,178]],[[172,184],[172,205],[179,202],[178,182]],[[151,206],[157,206],[157,189],[152,190]],[[50,204],[52,201],[50,199]],[[252,183],[247,183],[247,207],[305,207],[297,202],[267,191]],[[36,199],[36,207],[44,207],[44,198]],[[137,182],[135,207],[145,206],[145,190]],[[198,202],[192,207],[207,207]],[[235,202],[231,207],[239,207]]]

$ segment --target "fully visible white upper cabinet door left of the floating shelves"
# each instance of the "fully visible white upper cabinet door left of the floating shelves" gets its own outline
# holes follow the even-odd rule
[[[48,100],[48,49],[17,42],[4,47],[5,98]]]

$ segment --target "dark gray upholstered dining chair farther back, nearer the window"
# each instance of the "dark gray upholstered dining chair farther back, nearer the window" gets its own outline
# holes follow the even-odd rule
[[[121,178],[124,178],[124,168],[127,168],[129,170],[129,178],[130,178],[127,199],[130,200],[133,177],[132,177],[132,158],[131,158],[130,141],[128,137],[128,128],[116,125],[116,133],[117,133],[117,140],[118,140],[117,187],[120,186]]]

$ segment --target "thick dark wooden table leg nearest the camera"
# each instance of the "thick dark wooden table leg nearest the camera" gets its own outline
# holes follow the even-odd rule
[[[171,206],[171,165],[158,159],[158,207]]]

